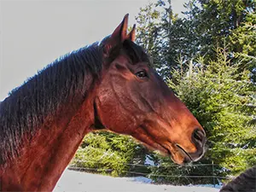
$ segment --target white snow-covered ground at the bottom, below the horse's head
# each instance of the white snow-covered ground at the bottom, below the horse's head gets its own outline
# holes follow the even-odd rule
[[[108,177],[66,170],[54,192],[217,192],[200,186],[172,186],[150,183],[146,177]]]

